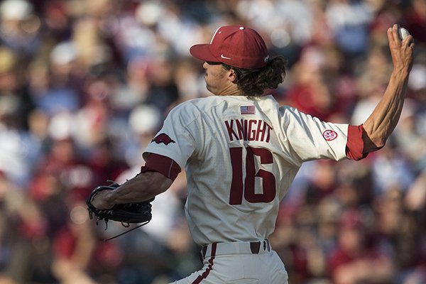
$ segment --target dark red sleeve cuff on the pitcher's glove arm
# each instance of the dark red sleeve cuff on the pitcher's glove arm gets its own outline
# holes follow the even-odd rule
[[[166,157],[165,155],[158,155],[150,153],[146,159],[145,165],[141,168],[141,173],[145,172],[158,172],[163,174],[170,180],[175,180],[180,173],[180,166],[174,160]]]

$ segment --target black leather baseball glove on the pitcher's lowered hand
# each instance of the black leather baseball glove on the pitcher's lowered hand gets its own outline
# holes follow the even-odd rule
[[[121,222],[121,224],[126,227],[129,227],[131,223],[141,223],[133,229],[136,229],[140,226],[148,224],[152,218],[151,202],[153,202],[154,199],[147,200],[144,202],[116,204],[114,205],[114,207],[110,209],[97,209],[96,207],[93,206],[92,200],[94,196],[97,195],[98,192],[101,192],[102,190],[115,190],[119,186],[120,185],[118,183],[111,182],[110,185],[99,185],[92,191],[92,193],[90,194],[89,198],[86,201],[87,209],[89,210],[90,219],[93,219],[93,217],[97,217],[97,224],[99,220],[104,220],[107,227],[108,227],[109,220]],[[105,229],[107,229],[107,227]],[[125,231],[123,234],[127,232],[128,231]],[[119,234],[118,236],[121,236],[121,235],[122,234]],[[114,239],[116,237],[117,236],[114,236],[113,238],[110,238],[110,239]]]

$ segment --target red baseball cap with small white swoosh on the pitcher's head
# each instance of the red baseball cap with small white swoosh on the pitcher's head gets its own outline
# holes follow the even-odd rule
[[[264,67],[269,58],[261,35],[244,26],[221,26],[210,43],[192,45],[190,53],[200,60],[245,69]]]

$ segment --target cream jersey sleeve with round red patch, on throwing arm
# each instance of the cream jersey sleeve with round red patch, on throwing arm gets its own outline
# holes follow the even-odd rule
[[[282,108],[283,133],[293,162],[308,160],[342,160],[346,156],[349,124],[320,121],[293,107]]]

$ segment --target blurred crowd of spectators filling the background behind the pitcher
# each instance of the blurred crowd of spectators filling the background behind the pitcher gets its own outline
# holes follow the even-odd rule
[[[289,60],[272,94],[361,124],[392,70],[386,29],[415,38],[403,114],[364,160],[305,163],[271,244],[291,284],[426,283],[426,0],[0,1],[0,284],[162,284],[201,267],[185,173],[126,228],[90,220],[94,186],[132,178],[170,108],[209,96],[190,57],[242,24]]]

